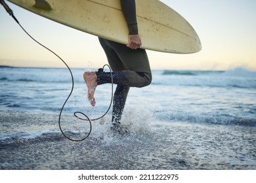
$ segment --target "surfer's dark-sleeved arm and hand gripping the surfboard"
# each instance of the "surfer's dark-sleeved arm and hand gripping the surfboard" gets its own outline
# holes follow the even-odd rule
[[[120,2],[123,16],[125,16],[129,29],[127,46],[132,49],[137,49],[141,46],[142,42],[139,37],[135,0],[120,0]]]

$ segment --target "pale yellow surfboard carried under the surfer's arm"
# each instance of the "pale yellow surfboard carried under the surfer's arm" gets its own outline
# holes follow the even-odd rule
[[[128,42],[128,27],[119,0],[7,1],[79,31],[122,44]],[[201,50],[192,25],[172,8],[158,0],[136,0],[136,7],[141,48],[176,54]]]

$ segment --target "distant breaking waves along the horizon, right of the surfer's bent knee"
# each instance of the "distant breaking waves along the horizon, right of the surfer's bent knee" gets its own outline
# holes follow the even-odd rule
[[[256,72],[246,69],[228,71],[169,71],[154,75],[153,85],[206,86],[217,88],[256,88]]]

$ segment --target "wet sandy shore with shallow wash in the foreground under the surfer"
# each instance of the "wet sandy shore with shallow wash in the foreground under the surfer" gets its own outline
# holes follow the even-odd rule
[[[88,139],[72,142],[54,114],[1,111],[1,119],[9,131],[0,133],[0,169],[256,169],[255,127],[151,122],[114,136],[95,122]],[[18,137],[25,129],[45,132]]]

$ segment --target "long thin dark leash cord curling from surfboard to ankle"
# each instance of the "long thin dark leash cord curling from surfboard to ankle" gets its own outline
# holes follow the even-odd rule
[[[100,116],[100,117],[98,117],[98,118],[95,118],[95,119],[90,119],[90,118],[89,118],[86,114],[84,114],[83,112],[79,112],[79,111],[74,112],[75,118],[78,118],[79,120],[85,120],[85,121],[88,121],[88,122],[89,122],[89,124],[90,124],[90,130],[89,130],[88,135],[86,135],[86,136],[85,136],[84,138],[82,138],[82,139],[72,139],[71,137],[68,137],[68,135],[66,135],[66,134],[64,133],[64,131],[62,130],[62,127],[61,127],[61,125],[60,125],[60,118],[61,118],[62,111],[63,111],[63,109],[64,109],[64,107],[65,107],[65,105],[66,105],[68,99],[70,98],[70,96],[72,95],[72,92],[73,92],[73,90],[74,90],[74,76],[73,76],[73,74],[72,74],[72,71],[71,71],[70,67],[69,67],[68,64],[64,61],[64,59],[60,58],[60,56],[58,56],[58,54],[56,54],[55,52],[53,52],[53,50],[51,50],[50,48],[48,48],[47,46],[41,44],[41,42],[37,41],[36,39],[34,39],[34,38],[32,37],[32,35],[30,35],[30,33],[28,33],[28,31],[26,31],[26,29],[24,29],[24,27],[22,27],[22,25],[20,24],[20,22],[18,22],[18,19],[14,16],[13,11],[12,11],[11,8],[5,3],[4,0],[0,0],[0,3],[1,3],[1,5],[3,5],[3,7],[5,8],[5,10],[7,10],[7,12],[9,13],[9,15],[12,16],[12,18],[15,20],[15,22],[16,22],[18,25],[20,25],[20,27],[22,28],[22,30],[23,30],[33,41],[35,41],[37,44],[39,44],[39,45],[42,46],[43,48],[49,50],[49,52],[53,53],[58,59],[60,59],[60,60],[62,61],[62,63],[64,63],[64,65],[66,65],[68,71],[70,72],[70,76],[71,76],[71,78],[72,78],[72,88],[71,88],[70,93],[69,93],[68,97],[66,98],[64,104],[62,105],[62,108],[60,109],[60,114],[59,114],[59,116],[58,116],[58,126],[59,126],[59,128],[60,128],[60,131],[61,131],[62,135],[64,135],[64,137],[66,137],[66,138],[69,139],[70,141],[75,141],[75,142],[84,141],[85,139],[87,139],[87,137],[89,137],[89,135],[91,135],[91,131],[92,131],[92,128],[93,128],[91,122],[92,122],[92,121],[95,121],[95,120],[100,120],[100,118],[103,118],[104,116],[106,116],[106,114],[108,113],[108,111],[110,110],[110,107],[111,107],[111,105],[112,105],[112,102],[113,102],[113,93],[114,93],[114,90],[113,90],[114,82],[113,82],[113,75],[112,75],[112,70],[111,70],[110,66],[109,66],[108,64],[106,64],[106,65],[104,65],[104,66],[102,67],[102,71],[103,71],[104,67],[106,67],[106,66],[108,67],[108,69],[110,69],[111,80],[112,80],[112,97],[111,97],[110,105],[109,105],[108,109],[106,110],[106,112],[105,112],[102,116]],[[79,117],[78,114],[83,115],[85,118]]]

